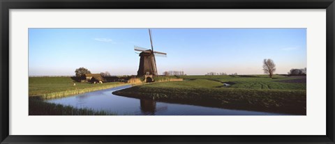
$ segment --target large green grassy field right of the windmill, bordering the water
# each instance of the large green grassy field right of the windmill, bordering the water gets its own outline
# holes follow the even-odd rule
[[[186,80],[134,86],[113,94],[225,109],[306,115],[306,83],[278,82],[297,78],[279,75],[275,79],[262,75],[182,78]],[[225,87],[223,83],[231,86]]]

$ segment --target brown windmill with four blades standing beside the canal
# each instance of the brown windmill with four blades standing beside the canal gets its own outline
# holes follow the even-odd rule
[[[166,53],[154,51],[152,45],[151,30],[149,29],[151,49],[134,46],[135,51],[140,51],[140,66],[138,67],[137,76],[158,75],[155,56],[166,56]],[[137,53],[138,54],[138,53]]]

